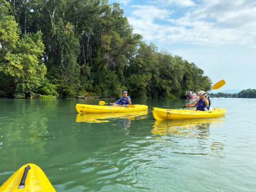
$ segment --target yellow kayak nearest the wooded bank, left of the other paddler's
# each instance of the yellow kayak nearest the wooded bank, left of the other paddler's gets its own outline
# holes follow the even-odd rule
[[[78,113],[124,113],[124,112],[136,112],[147,111],[148,106],[145,105],[131,105],[123,107],[113,106],[97,106],[88,104],[76,104],[76,110]]]

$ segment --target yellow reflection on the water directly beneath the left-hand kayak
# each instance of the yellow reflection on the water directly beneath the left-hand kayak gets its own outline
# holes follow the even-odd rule
[[[79,113],[76,116],[76,122],[87,122],[87,123],[103,123],[109,122],[111,118],[121,119],[143,119],[147,118],[148,111],[138,111],[129,113]]]

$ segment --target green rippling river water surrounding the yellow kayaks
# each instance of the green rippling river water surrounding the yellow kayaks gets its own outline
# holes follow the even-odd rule
[[[104,100],[113,102],[114,100]],[[211,99],[220,118],[156,121],[148,113],[79,116],[97,99],[0,100],[0,185],[35,163],[56,191],[255,191],[256,99]]]

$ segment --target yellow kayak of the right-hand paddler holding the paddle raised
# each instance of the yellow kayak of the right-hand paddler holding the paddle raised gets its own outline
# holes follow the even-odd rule
[[[189,109],[162,109],[153,108],[152,114],[156,120],[179,120],[190,118],[212,118],[225,115],[226,110],[223,108],[211,111],[195,111]]]

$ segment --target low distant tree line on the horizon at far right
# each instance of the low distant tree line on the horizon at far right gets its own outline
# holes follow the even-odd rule
[[[231,97],[231,98],[256,98],[256,90],[247,89],[239,93],[210,93],[211,97]]]

